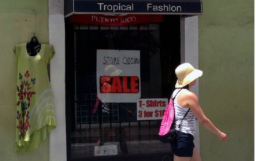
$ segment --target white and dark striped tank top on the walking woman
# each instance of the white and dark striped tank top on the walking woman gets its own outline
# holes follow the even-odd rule
[[[180,89],[175,89],[174,92],[172,93],[172,96],[174,97],[179,90]],[[182,89],[182,90],[187,90],[187,89]],[[196,132],[196,128],[197,128],[196,117],[194,116],[194,114],[192,113],[192,111],[190,109],[189,112],[187,113],[187,116],[182,121],[182,118],[185,116],[188,108],[181,107],[177,103],[177,98],[178,98],[179,94],[182,92],[182,90],[177,94],[177,96],[174,99],[174,111],[175,111],[174,128],[177,131],[189,133],[195,137],[195,132]],[[182,121],[182,123],[181,123],[181,121]],[[180,123],[181,123],[181,126],[179,128]]]

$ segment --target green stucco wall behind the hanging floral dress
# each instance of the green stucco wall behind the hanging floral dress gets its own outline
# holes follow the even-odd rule
[[[35,36],[48,44],[48,0],[1,0],[0,2],[0,161],[48,161],[49,139],[39,148],[15,152],[16,74],[15,44]]]

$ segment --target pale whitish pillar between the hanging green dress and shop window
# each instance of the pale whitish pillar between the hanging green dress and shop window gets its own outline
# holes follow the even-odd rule
[[[57,120],[57,127],[49,136],[49,161],[66,161],[64,0],[49,0],[49,44],[55,50],[50,62],[50,81]]]

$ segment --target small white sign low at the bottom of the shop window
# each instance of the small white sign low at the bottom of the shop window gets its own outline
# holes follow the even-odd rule
[[[94,156],[113,156],[117,154],[117,145],[94,146]]]

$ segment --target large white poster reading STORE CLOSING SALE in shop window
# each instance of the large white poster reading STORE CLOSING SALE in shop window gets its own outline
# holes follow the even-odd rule
[[[102,102],[140,98],[140,51],[97,50],[97,96]]]

